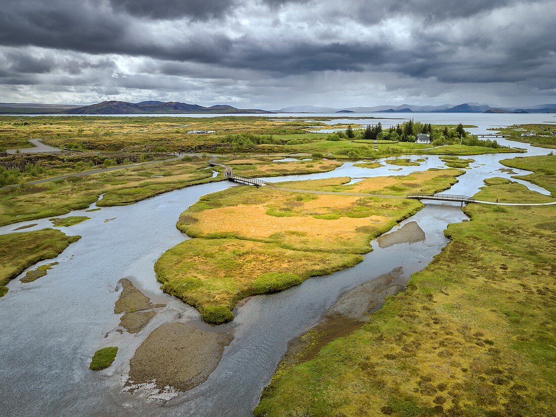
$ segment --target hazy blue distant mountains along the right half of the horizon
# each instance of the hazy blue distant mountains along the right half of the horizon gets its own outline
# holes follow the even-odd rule
[[[493,107],[479,103],[463,103],[457,106],[374,106],[374,107],[314,107],[294,106],[276,110],[277,113],[556,113],[556,104],[532,107]]]

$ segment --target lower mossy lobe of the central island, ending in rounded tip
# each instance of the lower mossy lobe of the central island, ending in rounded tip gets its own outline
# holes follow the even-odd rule
[[[310,276],[353,266],[360,255],[305,252],[239,239],[191,239],[156,262],[162,290],[219,324],[234,318],[236,303],[252,294],[280,291]],[[268,272],[272,271],[271,274]]]

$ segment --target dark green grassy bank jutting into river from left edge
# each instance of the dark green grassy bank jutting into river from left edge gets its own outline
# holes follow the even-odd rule
[[[8,292],[9,280],[39,261],[58,256],[79,239],[54,229],[0,235],[0,297]]]

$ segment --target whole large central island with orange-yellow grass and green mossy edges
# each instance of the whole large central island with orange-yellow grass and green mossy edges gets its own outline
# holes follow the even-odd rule
[[[371,250],[374,237],[423,207],[419,201],[391,198],[391,193],[401,195],[408,188],[444,190],[461,173],[429,170],[345,186],[372,189],[386,194],[384,197],[315,195],[249,186],[202,197],[183,212],[177,224],[195,239],[162,255],[155,265],[158,280],[165,292],[200,310],[203,320],[229,321],[234,317],[231,310],[246,296],[284,290],[310,276],[355,265],[363,259],[361,254]],[[334,178],[286,184],[318,190],[347,181]]]

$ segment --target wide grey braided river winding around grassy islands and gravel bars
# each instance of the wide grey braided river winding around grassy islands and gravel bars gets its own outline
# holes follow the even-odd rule
[[[461,120],[461,115],[449,116]],[[483,116],[492,115],[474,115],[475,118]],[[543,119],[549,117],[544,115]],[[463,122],[486,126],[477,120]],[[508,119],[507,123],[499,125],[514,122],[521,121]],[[527,148],[528,153],[520,156],[546,155],[550,151],[523,143],[499,142]],[[499,160],[513,156],[517,155],[472,156],[476,162],[471,164],[471,169],[446,192],[471,196],[483,186],[484,178],[509,178],[527,173],[500,171],[505,167]],[[410,158],[414,160],[419,156]],[[438,156],[425,158],[420,166],[401,167],[400,171],[391,171],[396,168],[393,166],[358,168],[353,162],[346,162],[331,172],[267,180],[405,175],[444,166]],[[520,182],[548,194],[543,188]],[[14,279],[8,284],[8,294],[0,299],[0,415],[249,416],[288,342],[314,325],[342,292],[399,266],[403,269],[401,280],[407,280],[413,272],[428,265],[446,245],[448,240],[443,231],[448,224],[466,219],[459,203],[427,202],[423,210],[401,224],[418,222],[425,232],[424,242],[380,248],[373,241],[374,250],[360,264],[306,280],[277,294],[251,297],[236,309],[236,319],[231,324],[211,327],[199,321],[195,309],[162,293],[153,264],[167,249],[187,239],[175,227],[180,213],[201,196],[230,186],[233,185],[224,181],[210,183],[168,192],[129,206],[68,214],[92,217],[76,226],[61,228],[67,234],[81,235],[82,239],[56,259],[39,263],[59,262],[48,275],[31,284]],[[32,223],[38,225],[23,231],[52,227],[47,219],[28,221],[0,227],[0,234]],[[36,265],[29,269],[34,267]],[[116,331],[119,316],[113,314],[113,308],[119,295],[117,282],[123,277],[131,279],[153,302],[167,304],[135,335]],[[212,331],[230,331],[234,340],[226,347],[220,364],[205,383],[177,394],[166,403],[157,401],[160,397],[148,387],[134,394],[124,392],[123,383],[135,349],[152,330],[170,321]],[[105,346],[120,347],[114,364],[105,371],[88,370],[92,354]]]

